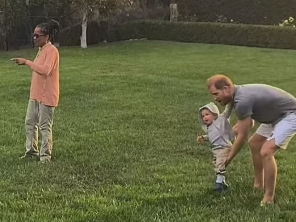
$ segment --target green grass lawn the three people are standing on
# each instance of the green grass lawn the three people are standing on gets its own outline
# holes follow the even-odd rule
[[[210,147],[196,134],[197,110],[212,101],[208,77],[296,95],[296,51],[165,41],[59,50],[61,97],[45,165],[19,159],[30,70],[9,61],[36,50],[0,52],[1,221],[295,221],[295,139],[277,155],[276,204],[260,208],[247,147],[228,168],[229,192],[215,194]]]

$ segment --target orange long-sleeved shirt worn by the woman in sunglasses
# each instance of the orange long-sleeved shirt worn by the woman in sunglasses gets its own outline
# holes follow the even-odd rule
[[[59,102],[59,52],[51,42],[39,48],[36,59],[25,62],[32,70],[30,99],[46,106]]]

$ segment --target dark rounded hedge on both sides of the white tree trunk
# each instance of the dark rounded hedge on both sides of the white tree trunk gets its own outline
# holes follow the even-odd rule
[[[59,33],[56,42],[59,42],[60,46],[78,46],[80,45],[81,32],[81,24],[64,28]],[[107,23],[88,22],[86,32],[87,44],[98,44],[107,40]]]

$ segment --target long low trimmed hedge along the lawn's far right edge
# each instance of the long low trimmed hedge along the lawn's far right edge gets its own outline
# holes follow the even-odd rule
[[[133,38],[296,49],[296,28],[208,22],[138,20],[107,32],[108,41]]]

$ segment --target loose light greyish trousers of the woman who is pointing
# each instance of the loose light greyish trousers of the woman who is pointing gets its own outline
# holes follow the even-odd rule
[[[54,107],[46,106],[36,100],[29,100],[25,120],[26,152],[36,155],[40,160],[50,160],[52,156],[52,123]],[[38,150],[38,130],[41,133],[41,149]]]

